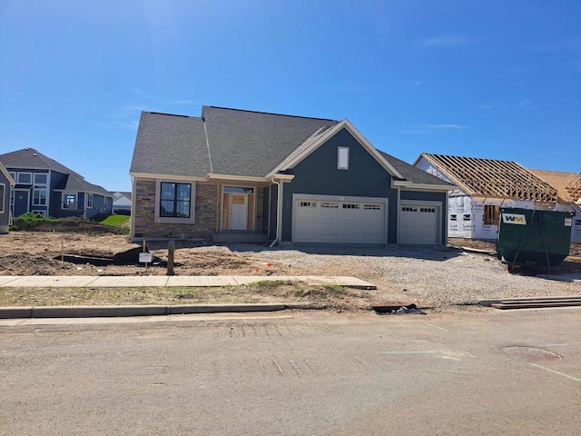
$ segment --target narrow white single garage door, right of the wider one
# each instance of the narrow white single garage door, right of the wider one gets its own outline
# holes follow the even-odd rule
[[[438,206],[401,206],[399,218],[399,243],[439,243]]]

